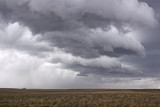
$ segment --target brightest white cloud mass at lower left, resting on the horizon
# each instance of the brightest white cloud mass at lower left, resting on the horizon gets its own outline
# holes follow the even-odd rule
[[[0,50],[0,63],[0,87],[57,88],[69,84],[77,74],[16,50]]]

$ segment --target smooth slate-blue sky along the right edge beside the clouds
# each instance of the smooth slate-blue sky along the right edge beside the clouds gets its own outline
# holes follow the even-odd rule
[[[159,0],[140,0],[148,3],[155,11],[155,17],[160,21],[160,8],[159,8]],[[160,70],[159,70],[159,57],[160,57],[160,26],[158,25],[156,28],[144,30],[144,37],[142,38],[142,44],[146,50],[146,57],[137,58],[137,57],[127,57],[123,58],[123,61],[127,63],[135,64],[137,67],[141,68],[144,71],[144,75],[148,77],[159,78]],[[124,60],[125,59],[125,60]]]

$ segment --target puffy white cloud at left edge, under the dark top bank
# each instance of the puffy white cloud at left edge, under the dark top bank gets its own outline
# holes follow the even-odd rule
[[[0,44],[3,49],[19,49],[30,54],[43,54],[51,51],[47,42],[39,42],[41,35],[33,35],[32,32],[18,22],[9,23],[0,30]]]

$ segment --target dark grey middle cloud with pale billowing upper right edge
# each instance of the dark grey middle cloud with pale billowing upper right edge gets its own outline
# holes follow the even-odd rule
[[[145,56],[145,49],[139,41],[127,34],[121,34],[113,26],[110,30],[82,28],[74,31],[50,32],[44,34],[42,39],[49,41],[53,46],[63,48],[68,53],[85,58],[101,55],[119,57],[125,54]]]

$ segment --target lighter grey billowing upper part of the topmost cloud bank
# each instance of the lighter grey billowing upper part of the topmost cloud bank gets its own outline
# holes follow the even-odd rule
[[[33,11],[44,14],[54,13],[64,20],[83,18],[91,13],[109,20],[145,25],[156,23],[153,9],[148,4],[137,0],[31,0],[29,6]]]

